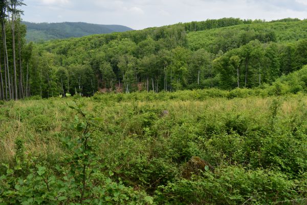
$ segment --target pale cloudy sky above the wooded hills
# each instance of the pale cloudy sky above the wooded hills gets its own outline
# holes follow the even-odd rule
[[[133,29],[223,17],[307,18],[307,0],[25,0],[28,22],[117,24]]]

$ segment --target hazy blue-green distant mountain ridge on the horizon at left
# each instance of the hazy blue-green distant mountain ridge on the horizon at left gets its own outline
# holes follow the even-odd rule
[[[92,34],[125,32],[133,29],[121,25],[99,25],[83,22],[63,23],[31,23],[23,22],[27,26],[26,39],[30,42],[41,42],[52,39],[82,37]]]

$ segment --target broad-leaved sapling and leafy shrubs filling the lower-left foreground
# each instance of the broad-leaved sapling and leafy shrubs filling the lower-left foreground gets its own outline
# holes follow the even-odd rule
[[[145,192],[125,187],[120,179],[114,182],[99,171],[97,143],[90,130],[101,119],[86,114],[82,104],[69,107],[77,115],[71,126],[74,136],[61,139],[67,154],[52,168],[37,157],[26,158],[24,141],[16,139],[15,165],[2,165],[6,171],[0,176],[0,203],[152,204],[153,198]],[[41,130],[43,123],[33,126]],[[109,176],[113,176],[111,171]]]

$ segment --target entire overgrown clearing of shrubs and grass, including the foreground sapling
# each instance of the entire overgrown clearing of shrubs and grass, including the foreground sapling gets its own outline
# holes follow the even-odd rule
[[[0,203],[305,204],[307,98],[255,93],[3,101]]]

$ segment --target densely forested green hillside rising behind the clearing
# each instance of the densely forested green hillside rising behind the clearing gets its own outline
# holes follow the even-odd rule
[[[307,64],[306,30],[307,20],[224,18],[54,40],[34,46],[31,94],[266,86]]]

